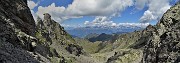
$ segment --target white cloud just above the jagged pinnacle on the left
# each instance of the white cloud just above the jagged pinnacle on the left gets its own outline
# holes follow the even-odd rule
[[[28,6],[31,9],[31,13],[35,21],[37,20],[37,16],[43,18],[44,13],[49,13],[52,16],[52,19],[58,21],[59,23],[70,18],[68,16],[64,16],[65,7],[55,6],[55,3],[52,3],[47,7],[39,6],[37,12],[34,12],[33,9],[38,6],[38,3],[35,3],[34,1],[28,1]]]

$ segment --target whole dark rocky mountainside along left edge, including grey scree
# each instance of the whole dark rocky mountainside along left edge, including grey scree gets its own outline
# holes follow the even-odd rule
[[[0,63],[38,63],[35,21],[25,0],[0,1]]]

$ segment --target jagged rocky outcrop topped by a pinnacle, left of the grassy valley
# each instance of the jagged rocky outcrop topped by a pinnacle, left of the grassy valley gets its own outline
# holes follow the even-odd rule
[[[38,43],[35,52],[56,62],[61,62],[60,59],[67,62],[70,61],[67,60],[69,57],[83,55],[83,48],[76,44],[59,23],[51,19],[50,14],[45,13],[44,20],[38,18],[36,26]]]

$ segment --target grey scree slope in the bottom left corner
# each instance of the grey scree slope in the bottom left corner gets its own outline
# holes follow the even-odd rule
[[[34,55],[8,42],[0,41],[0,63],[39,63]]]

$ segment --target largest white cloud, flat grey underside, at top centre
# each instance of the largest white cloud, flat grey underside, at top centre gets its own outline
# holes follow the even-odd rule
[[[132,5],[132,0],[74,0],[66,13],[71,16],[116,16]]]

